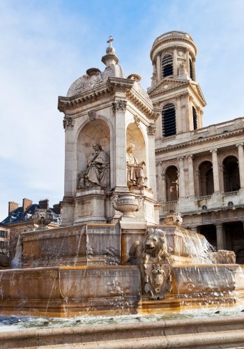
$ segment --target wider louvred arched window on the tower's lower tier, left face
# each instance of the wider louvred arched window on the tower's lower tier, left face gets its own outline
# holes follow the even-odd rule
[[[167,103],[162,108],[162,135],[169,137],[176,134],[176,109],[174,104]]]

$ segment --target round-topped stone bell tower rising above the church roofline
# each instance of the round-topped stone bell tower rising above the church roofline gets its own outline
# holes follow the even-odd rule
[[[150,57],[153,77],[148,94],[162,110],[155,138],[168,138],[203,127],[204,95],[196,81],[197,46],[183,31],[169,31],[155,39]]]

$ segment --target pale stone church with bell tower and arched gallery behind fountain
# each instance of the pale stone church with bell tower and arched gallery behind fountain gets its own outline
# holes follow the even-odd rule
[[[181,212],[184,227],[243,262],[244,118],[203,127],[196,55],[192,37],[181,31],[159,36],[151,49],[148,94],[162,110],[155,133],[160,220]]]

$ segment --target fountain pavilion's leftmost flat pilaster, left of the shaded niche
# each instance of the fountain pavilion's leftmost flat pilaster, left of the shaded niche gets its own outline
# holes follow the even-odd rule
[[[76,142],[73,135],[75,121],[71,117],[64,117],[63,128],[66,131],[64,196],[74,197],[77,189],[77,158]]]

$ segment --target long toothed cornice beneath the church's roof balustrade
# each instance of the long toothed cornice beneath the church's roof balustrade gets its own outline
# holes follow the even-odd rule
[[[168,145],[167,147],[162,148],[162,149],[155,149],[155,154],[158,155],[158,154],[165,153],[166,151],[169,151],[169,150],[171,151],[171,150],[174,150],[174,149],[181,149],[181,148],[189,147],[189,146],[195,145],[195,144],[202,144],[202,143],[205,143],[205,142],[208,142],[208,141],[211,141],[211,140],[218,140],[218,139],[221,139],[221,138],[231,138],[233,135],[238,135],[238,134],[241,134],[241,133],[244,133],[243,128],[241,128],[239,130],[235,130],[235,131],[229,132],[229,133],[220,133],[219,135],[213,135],[213,136],[209,136],[209,137],[206,137],[206,138],[201,138],[201,139],[198,139],[198,140],[190,140],[188,142],[183,142],[181,144]]]

